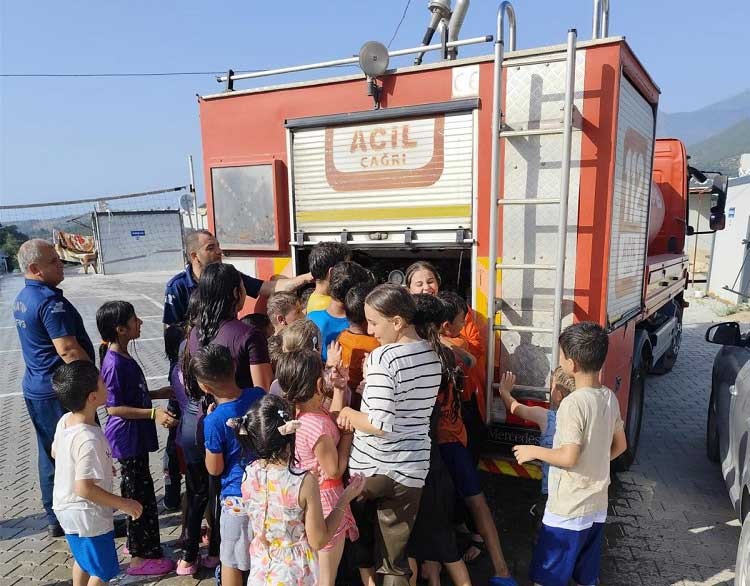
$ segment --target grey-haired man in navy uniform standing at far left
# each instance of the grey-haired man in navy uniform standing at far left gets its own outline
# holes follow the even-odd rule
[[[57,288],[65,278],[63,263],[44,240],[29,240],[18,250],[18,264],[26,286],[13,303],[13,317],[26,363],[23,397],[39,446],[39,485],[47,512],[47,531],[61,537],[62,527],[52,510],[55,461],[52,440],[65,412],[52,390],[51,377],[63,362],[94,360],[94,346],[81,315]]]

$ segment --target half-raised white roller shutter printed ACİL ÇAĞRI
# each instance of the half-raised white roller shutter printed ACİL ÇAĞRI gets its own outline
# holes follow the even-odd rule
[[[294,231],[354,244],[455,242],[472,228],[474,112],[292,129]],[[373,239],[378,234],[378,239]],[[467,235],[468,236],[468,235]]]

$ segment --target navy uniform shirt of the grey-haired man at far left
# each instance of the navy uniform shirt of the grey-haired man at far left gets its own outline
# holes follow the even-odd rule
[[[91,344],[81,314],[65,299],[61,289],[41,281],[26,279],[13,303],[13,317],[26,363],[23,394],[27,399],[51,399],[52,373],[63,363],[52,340],[75,336],[81,348],[94,360]]]

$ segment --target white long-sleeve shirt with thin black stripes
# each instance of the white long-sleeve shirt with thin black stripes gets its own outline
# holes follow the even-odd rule
[[[440,379],[440,360],[425,341],[388,344],[370,353],[362,412],[384,433],[355,432],[352,472],[424,486],[430,470],[430,415]]]

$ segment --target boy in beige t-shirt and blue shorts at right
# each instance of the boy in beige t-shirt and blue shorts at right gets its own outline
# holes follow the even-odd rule
[[[530,578],[541,586],[594,586],[607,519],[610,460],[627,442],[617,398],[599,378],[607,332],[582,322],[560,334],[560,366],[575,391],[560,404],[553,447],[514,446],[519,464],[550,464],[547,508],[531,560]]]

